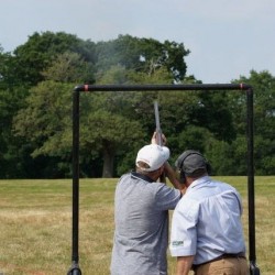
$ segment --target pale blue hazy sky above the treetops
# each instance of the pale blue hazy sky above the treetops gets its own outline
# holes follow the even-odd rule
[[[187,75],[227,84],[252,69],[275,76],[274,14],[274,0],[0,0],[0,45],[12,52],[46,31],[175,41],[190,51]]]

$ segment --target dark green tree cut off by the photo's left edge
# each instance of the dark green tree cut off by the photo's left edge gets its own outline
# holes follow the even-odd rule
[[[24,151],[22,140],[12,133],[12,118],[24,107],[29,87],[16,74],[15,58],[0,50],[0,178],[24,177]]]

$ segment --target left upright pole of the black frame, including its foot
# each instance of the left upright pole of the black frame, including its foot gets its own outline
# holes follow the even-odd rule
[[[73,94],[73,253],[68,275],[80,275],[78,266],[78,223],[79,223],[79,91]]]

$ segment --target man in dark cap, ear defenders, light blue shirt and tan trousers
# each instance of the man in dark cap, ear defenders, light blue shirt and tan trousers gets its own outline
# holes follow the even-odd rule
[[[172,220],[176,274],[248,275],[239,193],[209,177],[210,165],[199,152],[184,152],[176,166],[187,188]]]

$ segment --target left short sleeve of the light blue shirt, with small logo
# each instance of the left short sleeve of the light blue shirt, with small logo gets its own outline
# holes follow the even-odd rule
[[[184,204],[182,204],[183,200]],[[169,243],[172,256],[190,256],[196,254],[198,211],[198,205],[185,197],[177,205],[172,219]]]

